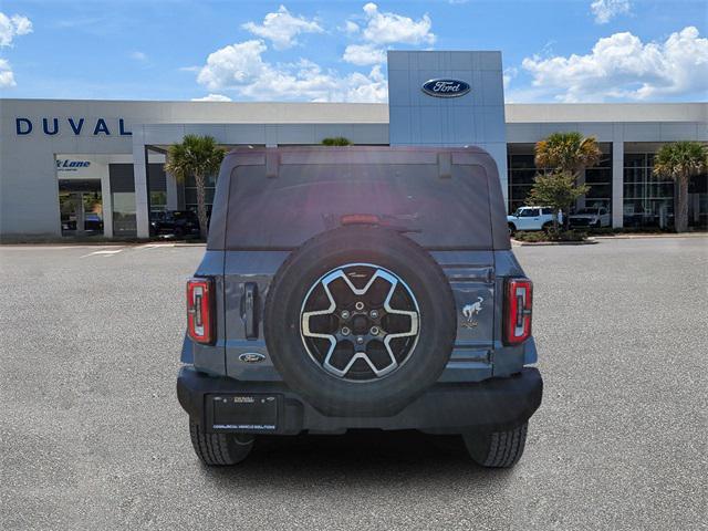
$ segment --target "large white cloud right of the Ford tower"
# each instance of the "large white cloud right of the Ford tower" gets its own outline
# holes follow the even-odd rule
[[[664,42],[647,42],[629,32],[600,39],[585,55],[527,58],[522,67],[538,95],[558,101],[645,101],[708,93],[708,39],[694,27]]]

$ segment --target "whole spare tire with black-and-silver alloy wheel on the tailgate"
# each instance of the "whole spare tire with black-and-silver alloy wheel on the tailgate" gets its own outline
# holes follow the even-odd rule
[[[325,415],[393,415],[440,376],[457,330],[450,285],[428,252],[375,226],[303,243],[280,267],[264,333],[285,383]]]

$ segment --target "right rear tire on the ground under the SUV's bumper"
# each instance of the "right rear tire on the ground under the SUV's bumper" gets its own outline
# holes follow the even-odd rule
[[[475,462],[488,468],[511,468],[523,455],[529,423],[508,431],[462,434],[467,451]]]

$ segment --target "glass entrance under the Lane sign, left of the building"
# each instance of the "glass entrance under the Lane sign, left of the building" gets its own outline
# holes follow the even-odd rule
[[[103,236],[101,179],[59,179],[62,236]]]

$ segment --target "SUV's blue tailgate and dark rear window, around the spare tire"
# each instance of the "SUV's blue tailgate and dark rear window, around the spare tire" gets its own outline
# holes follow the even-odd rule
[[[444,268],[459,310],[457,344],[444,379],[491,375],[492,251],[509,249],[509,238],[496,166],[485,152],[373,147],[235,152],[222,167],[216,201],[222,205],[215,206],[209,248],[225,251],[230,376],[279,379],[260,325],[270,280],[293,249],[339,227],[347,215],[376,216],[382,225],[428,249]]]

